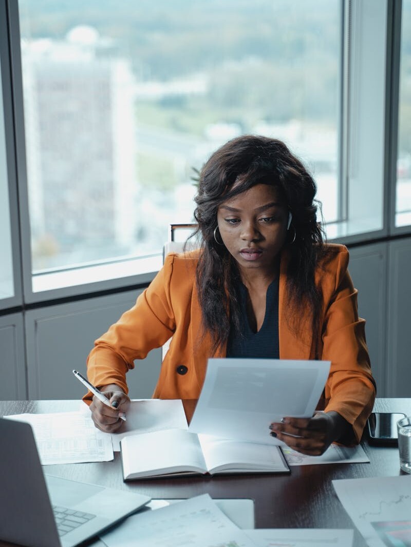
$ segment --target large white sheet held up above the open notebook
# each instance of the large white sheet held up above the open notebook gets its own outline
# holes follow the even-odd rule
[[[283,445],[270,437],[270,423],[312,416],[329,368],[329,361],[209,359],[189,429]]]

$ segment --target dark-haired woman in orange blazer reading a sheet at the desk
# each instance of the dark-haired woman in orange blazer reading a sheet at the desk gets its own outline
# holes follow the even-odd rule
[[[364,321],[347,249],[323,242],[315,194],[276,139],[238,137],[210,157],[195,198],[201,249],[168,255],[89,355],[90,381],[116,407],[94,398],[96,427],[121,426],[125,372],[173,336],[153,397],[198,398],[212,356],[330,360],[319,412],[284,417],[271,435],[308,455],[359,441],[375,398]]]

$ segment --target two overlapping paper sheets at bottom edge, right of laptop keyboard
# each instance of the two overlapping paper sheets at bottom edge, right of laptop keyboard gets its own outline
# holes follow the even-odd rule
[[[100,536],[107,547],[351,547],[352,529],[242,530],[208,494],[128,517]]]

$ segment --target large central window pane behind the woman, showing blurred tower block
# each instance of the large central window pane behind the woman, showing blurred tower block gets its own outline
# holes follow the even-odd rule
[[[338,211],[340,0],[20,0],[35,271],[161,252],[197,171],[281,138]]]

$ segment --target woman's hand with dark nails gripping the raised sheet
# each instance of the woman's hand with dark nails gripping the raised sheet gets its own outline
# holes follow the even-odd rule
[[[284,417],[270,429],[277,439],[308,456],[320,456],[329,445],[349,432],[350,424],[338,412],[317,412],[312,418]],[[296,437],[292,437],[296,435]]]

